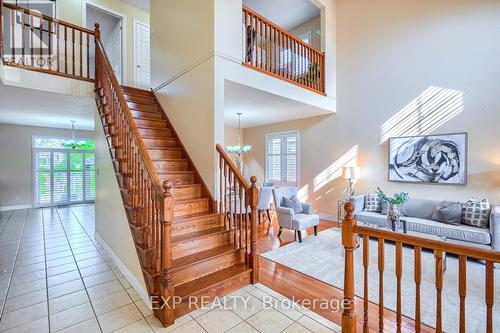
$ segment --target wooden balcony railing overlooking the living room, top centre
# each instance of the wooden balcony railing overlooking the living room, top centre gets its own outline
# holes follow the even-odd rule
[[[243,65],[325,93],[325,54],[243,7]]]

